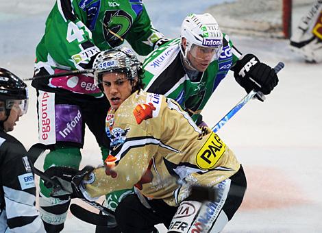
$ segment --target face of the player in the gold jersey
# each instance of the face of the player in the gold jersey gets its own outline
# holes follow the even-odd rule
[[[125,73],[104,73],[102,83],[104,93],[110,101],[110,105],[114,110],[118,109],[121,103],[132,94],[133,84],[127,79]]]

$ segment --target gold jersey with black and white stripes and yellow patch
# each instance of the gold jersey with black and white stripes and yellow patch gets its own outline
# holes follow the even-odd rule
[[[177,179],[213,186],[238,171],[234,153],[214,132],[204,134],[173,99],[133,93],[106,118],[113,175],[97,168],[86,194],[98,197],[136,186],[146,197],[177,205]]]

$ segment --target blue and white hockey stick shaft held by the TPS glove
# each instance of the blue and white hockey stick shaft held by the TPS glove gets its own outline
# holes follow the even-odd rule
[[[283,62],[278,62],[278,64],[274,67],[275,73],[280,72],[281,69],[284,68],[284,63]],[[245,95],[245,97],[243,97],[243,99],[241,99],[236,106],[234,106],[234,108],[232,108],[232,110],[230,110],[227,114],[225,114],[225,116],[223,116],[223,118],[216,123],[216,125],[214,125],[214,127],[212,127],[212,131],[213,132],[217,132],[219,129],[221,129],[221,127],[223,127],[223,125],[225,125],[225,123],[227,123],[227,121],[229,119],[232,118],[232,116],[234,116],[234,114],[236,114],[240,108],[243,108],[243,106],[245,106],[245,104],[250,100],[250,99],[254,99],[254,98],[258,98],[261,101],[264,101],[265,96],[263,93],[261,93],[260,91],[256,91],[256,90],[251,90],[250,93],[248,93],[247,95]]]

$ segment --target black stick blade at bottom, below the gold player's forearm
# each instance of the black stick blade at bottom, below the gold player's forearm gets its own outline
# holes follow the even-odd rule
[[[77,217],[77,219],[85,221],[86,223],[107,226],[108,228],[114,228],[117,225],[114,217],[91,212],[82,206],[78,206],[77,204],[71,204],[69,210],[71,210],[71,213]]]

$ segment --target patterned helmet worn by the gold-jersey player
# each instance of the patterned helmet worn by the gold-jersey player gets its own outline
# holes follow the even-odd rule
[[[125,73],[127,79],[138,78],[142,63],[132,49],[119,47],[99,53],[93,62],[93,68],[95,85],[99,86],[103,73],[119,72]]]

